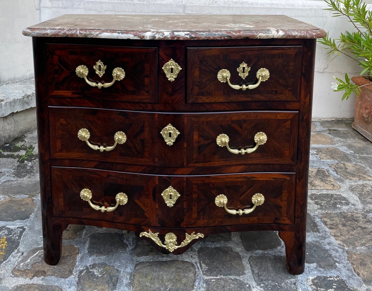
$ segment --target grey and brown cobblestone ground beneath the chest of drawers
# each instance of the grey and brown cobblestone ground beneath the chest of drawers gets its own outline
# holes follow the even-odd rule
[[[349,121],[313,122],[305,272],[276,232],[210,235],[163,255],[120,230],[70,225],[42,258],[36,133],[0,152],[0,291],[372,290],[372,143]]]

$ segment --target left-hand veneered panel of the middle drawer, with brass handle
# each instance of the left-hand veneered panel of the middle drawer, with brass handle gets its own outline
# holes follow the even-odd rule
[[[153,165],[154,124],[150,113],[49,107],[51,158]],[[125,134],[122,144],[115,144],[118,132]]]

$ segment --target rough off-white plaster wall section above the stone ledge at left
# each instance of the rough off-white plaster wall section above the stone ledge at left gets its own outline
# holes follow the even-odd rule
[[[39,22],[38,5],[39,0],[0,0],[0,86],[33,77],[31,37],[22,30]]]

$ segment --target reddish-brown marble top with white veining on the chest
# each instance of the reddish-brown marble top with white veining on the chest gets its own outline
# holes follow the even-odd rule
[[[323,29],[284,15],[65,14],[27,27],[23,35],[112,39],[320,38]]]

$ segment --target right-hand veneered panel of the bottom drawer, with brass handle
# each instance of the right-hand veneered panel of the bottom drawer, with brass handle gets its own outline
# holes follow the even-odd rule
[[[186,225],[190,227],[241,225],[257,223],[294,223],[295,174],[254,173],[224,176],[188,177],[186,195]],[[228,210],[247,209],[249,212],[262,194],[264,201],[248,214],[230,214]],[[256,196],[254,196],[256,194]],[[258,199],[262,202],[261,199]],[[250,209],[250,210],[249,210]]]

